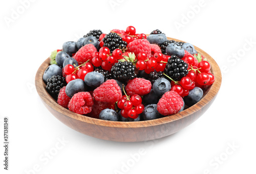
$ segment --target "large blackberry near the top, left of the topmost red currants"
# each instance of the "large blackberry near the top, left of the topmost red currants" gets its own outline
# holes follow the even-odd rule
[[[104,42],[103,46],[108,47],[111,53],[116,48],[119,48],[123,51],[127,46],[127,42],[123,41],[122,38],[118,36],[116,33],[109,33],[105,35],[102,41]]]

